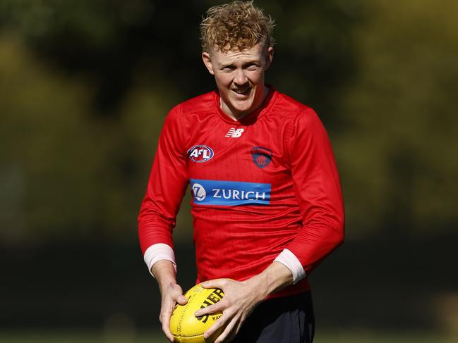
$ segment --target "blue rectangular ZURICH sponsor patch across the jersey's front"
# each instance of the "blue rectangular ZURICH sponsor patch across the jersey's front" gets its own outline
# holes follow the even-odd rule
[[[270,184],[191,179],[194,204],[217,206],[269,205]]]

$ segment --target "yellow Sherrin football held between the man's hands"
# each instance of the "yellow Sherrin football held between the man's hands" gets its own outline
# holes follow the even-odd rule
[[[224,297],[219,288],[203,288],[200,284],[195,285],[184,294],[188,304],[176,304],[170,318],[170,331],[174,335],[175,342],[179,343],[209,343],[213,342],[224,328],[215,332],[214,335],[203,338],[203,334],[222,316],[221,312],[211,315],[195,317],[195,311],[216,304]]]

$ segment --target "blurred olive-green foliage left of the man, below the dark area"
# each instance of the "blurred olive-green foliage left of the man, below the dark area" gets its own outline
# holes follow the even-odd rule
[[[133,91],[120,123],[90,116],[87,82],[49,73],[14,36],[0,39],[0,73],[1,235],[126,235],[146,183],[136,180],[140,160],[151,156],[167,111],[162,99]]]

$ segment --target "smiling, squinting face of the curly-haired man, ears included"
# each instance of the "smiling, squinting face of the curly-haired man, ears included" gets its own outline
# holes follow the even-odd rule
[[[221,96],[221,108],[229,117],[240,119],[255,111],[267,95],[264,73],[270,67],[274,49],[256,44],[243,51],[210,51],[203,62]]]

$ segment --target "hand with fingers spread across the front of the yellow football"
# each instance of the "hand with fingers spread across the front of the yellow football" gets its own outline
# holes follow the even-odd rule
[[[230,342],[239,332],[241,325],[253,312],[256,306],[265,299],[263,292],[259,292],[258,285],[253,279],[242,282],[230,279],[215,279],[202,282],[204,288],[219,288],[224,292],[224,297],[216,304],[207,306],[195,312],[195,316],[222,312],[221,318],[208,329],[204,338],[210,337],[219,328],[224,328],[215,343]]]

